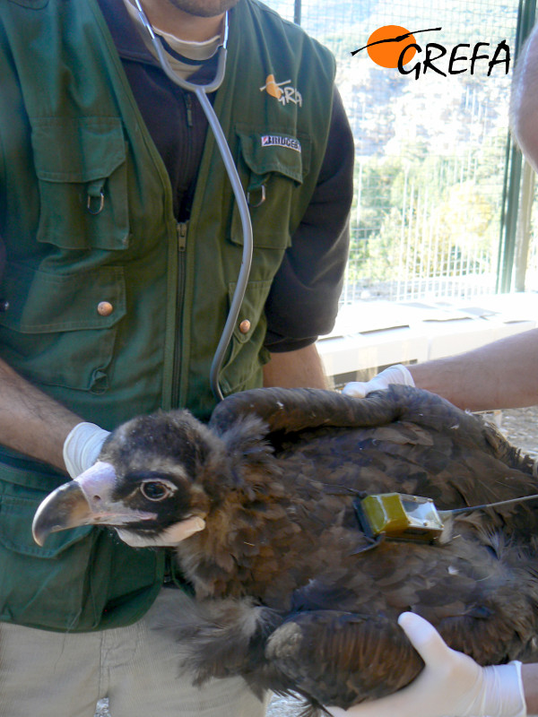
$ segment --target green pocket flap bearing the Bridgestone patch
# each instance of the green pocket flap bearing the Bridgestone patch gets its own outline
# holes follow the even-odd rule
[[[277,172],[302,184],[308,172],[310,145],[308,137],[295,137],[285,131],[272,134],[238,129],[241,155],[247,167],[259,177]],[[248,190],[256,186],[248,186]]]

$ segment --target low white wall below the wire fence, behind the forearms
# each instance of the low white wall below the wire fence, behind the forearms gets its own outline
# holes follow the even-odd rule
[[[360,301],[342,307],[334,331],[317,341],[338,386],[395,363],[418,363],[482,346],[538,325],[538,293],[457,302]]]

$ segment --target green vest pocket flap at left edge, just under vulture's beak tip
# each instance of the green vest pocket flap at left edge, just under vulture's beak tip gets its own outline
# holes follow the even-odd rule
[[[69,531],[55,532],[48,536],[43,548],[33,540],[31,522],[38,509],[39,503],[45,498],[43,494],[39,499],[24,497],[0,497],[0,543],[4,548],[13,550],[22,555],[33,557],[56,557],[63,550],[69,548],[90,533],[93,526],[82,525]]]

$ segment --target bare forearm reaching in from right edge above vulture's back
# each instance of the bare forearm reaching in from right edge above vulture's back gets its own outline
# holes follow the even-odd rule
[[[408,368],[419,388],[463,409],[532,406],[538,403],[538,329]]]

